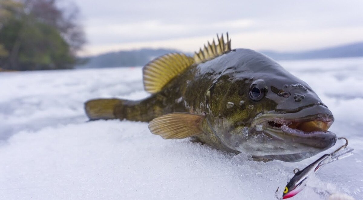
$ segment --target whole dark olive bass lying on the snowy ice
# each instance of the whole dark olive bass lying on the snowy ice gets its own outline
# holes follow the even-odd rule
[[[337,141],[329,108],[306,82],[268,56],[231,48],[217,34],[193,56],[162,55],[142,68],[150,96],[91,99],[90,120],[149,122],[164,139],[184,139],[253,159],[297,162]]]

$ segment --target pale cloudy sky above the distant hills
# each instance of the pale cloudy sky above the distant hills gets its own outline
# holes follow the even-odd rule
[[[143,47],[193,52],[228,31],[232,48],[303,51],[363,41],[363,1],[75,0],[81,55]]]

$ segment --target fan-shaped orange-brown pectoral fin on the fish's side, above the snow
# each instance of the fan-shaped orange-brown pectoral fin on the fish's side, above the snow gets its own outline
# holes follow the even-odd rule
[[[182,139],[203,133],[204,115],[173,112],[151,120],[150,131],[164,139]]]

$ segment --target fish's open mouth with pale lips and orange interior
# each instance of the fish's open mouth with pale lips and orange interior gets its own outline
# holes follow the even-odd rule
[[[304,146],[305,152],[317,152],[335,144],[337,136],[328,131],[333,122],[329,109],[315,105],[293,113],[262,114],[254,119],[251,127],[287,142],[285,146],[290,144],[290,149]]]

